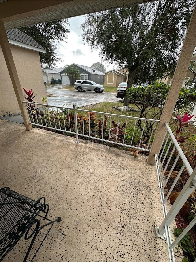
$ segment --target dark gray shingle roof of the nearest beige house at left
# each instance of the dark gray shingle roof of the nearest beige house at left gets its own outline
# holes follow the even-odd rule
[[[32,37],[21,32],[18,29],[8,29],[6,30],[7,38],[10,40],[17,41],[26,45],[31,45],[36,48],[45,50],[40,44],[38,44]]]

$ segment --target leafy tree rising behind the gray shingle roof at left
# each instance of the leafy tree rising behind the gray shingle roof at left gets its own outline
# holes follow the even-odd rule
[[[21,27],[19,30],[32,37],[37,43],[46,49],[46,53],[40,53],[41,65],[47,64],[51,66],[62,61],[55,53],[55,42],[66,41],[67,34],[70,33],[69,29],[67,29],[68,25],[69,22],[67,19],[62,19]]]

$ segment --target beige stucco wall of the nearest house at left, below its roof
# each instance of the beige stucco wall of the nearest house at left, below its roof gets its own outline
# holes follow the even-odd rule
[[[33,89],[37,98],[35,102],[42,103],[41,97],[46,97],[39,53],[29,49],[10,45],[13,59],[18,72],[21,87]],[[24,95],[25,92],[23,91]],[[25,99],[24,99],[25,100]],[[7,65],[0,47],[0,115],[20,113]]]

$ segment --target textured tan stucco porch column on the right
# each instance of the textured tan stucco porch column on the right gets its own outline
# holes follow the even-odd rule
[[[167,99],[165,101],[165,105],[163,108],[162,115],[160,117],[160,122],[158,128],[156,130],[156,134],[153,140],[153,144],[150,150],[149,157],[147,162],[149,164],[155,164],[154,154],[158,154],[161,143],[163,141],[166,127],[165,123],[169,123],[171,116],[173,114],[176,101],[178,100],[178,96],[183,84],[183,80],[186,76],[187,69],[190,64],[191,57],[194,52],[194,48],[196,45],[196,15],[195,15],[195,7],[190,19],[190,23],[187,29],[187,34],[184,39],[183,47],[180,52],[179,60],[175,68],[173,80],[171,87],[168,92]]]

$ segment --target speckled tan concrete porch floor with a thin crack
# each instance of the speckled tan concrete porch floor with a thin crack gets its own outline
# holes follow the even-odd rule
[[[48,217],[62,217],[34,261],[169,260],[166,242],[154,234],[163,214],[156,167],[145,156],[7,120],[0,127],[0,186],[45,196]],[[27,242],[3,261],[22,261]]]

